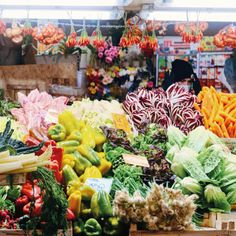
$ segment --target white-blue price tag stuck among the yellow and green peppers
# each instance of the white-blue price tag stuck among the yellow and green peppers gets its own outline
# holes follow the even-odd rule
[[[85,181],[85,185],[90,186],[91,188],[93,188],[94,190],[96,190],[97,192],[100,191],[105,191],[107,193],[110,193],[111,191],[111,185],[112,185],[113,179],[105,179],[105,178],[88,178]]]

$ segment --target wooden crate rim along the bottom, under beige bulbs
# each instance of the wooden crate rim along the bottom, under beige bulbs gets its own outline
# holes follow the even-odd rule
[[[229,236],[229,231],[215,230],[212,228],[202,228],[195,231],[155,232],[155,231],[137,230],[136,225],[131,225],[130,236]]]

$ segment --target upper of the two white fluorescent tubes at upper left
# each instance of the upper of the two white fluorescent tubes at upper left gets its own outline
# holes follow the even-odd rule
[[[0,0],[0,6],[12,7],[86,7],[127,6],[131,0]]]

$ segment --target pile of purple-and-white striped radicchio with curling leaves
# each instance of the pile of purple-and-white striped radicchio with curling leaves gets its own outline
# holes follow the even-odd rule
[[[194,95],[174,84],[166,92],[158,88],[129,93],[123,108],[138,129],[143,123],[157,123],[165,128],[175,125],[188,133],[202,124],[201,115],[194,108],[195,101]]]

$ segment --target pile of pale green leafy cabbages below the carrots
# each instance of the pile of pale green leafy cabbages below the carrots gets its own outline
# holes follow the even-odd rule
[[[175,187],[197,194],[199,211],[229,212],[236,203],[236,156],[203,126],[188,136],[170,126],[167,134],[167,158],[178,177]]]

